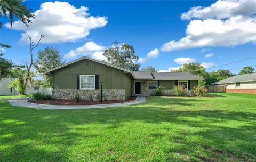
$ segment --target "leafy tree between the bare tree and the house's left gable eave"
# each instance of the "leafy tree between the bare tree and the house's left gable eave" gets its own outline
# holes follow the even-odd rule
[[[38,52],[34,67],[39,75],[43,77],[42,85],[44,88],[52,87],[52,76],[42,73],[65,63],[65,61],[61,61],[63,57],[59,53],[53,47],[45,47],[44,50]]]

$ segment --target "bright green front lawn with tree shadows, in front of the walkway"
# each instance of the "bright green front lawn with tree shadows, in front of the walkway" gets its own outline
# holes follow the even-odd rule
[[[255,161],[256,95],[39,110],[0,101],[0,161]]]

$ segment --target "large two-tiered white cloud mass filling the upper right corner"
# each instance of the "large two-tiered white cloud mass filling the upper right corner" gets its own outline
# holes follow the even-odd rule
[[[256,0],[219,0],[181,15],[191,21],[186,37],[164,43],[161,51],[256,43]],[[205,51],[205,50],[203,50]]]

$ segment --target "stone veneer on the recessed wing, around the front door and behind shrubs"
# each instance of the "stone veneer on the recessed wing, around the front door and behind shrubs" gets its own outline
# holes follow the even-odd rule
[[[147,80],[139,80],[141,82],[141,95],[156,95],[156,90],[148,89],[148,81]],[[132,82],[132,94],[135,93],[134,90],[134,81]],[[164,90],[163,96],[174,96],[173,90]],[[192,90],[185,90],[185,96],[195,96]]]

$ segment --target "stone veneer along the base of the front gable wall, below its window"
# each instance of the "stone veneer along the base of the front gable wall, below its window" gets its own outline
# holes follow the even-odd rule
[[[100,90],[73,90],[73,89],[53,89],[52,98],[61,100],[72,100],[78,93],[81,100],[99,100]],[[102,90],[103,98],[106,100],[125,100],[125,90]]]

